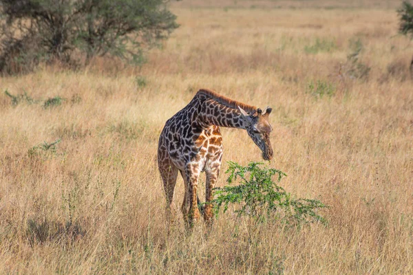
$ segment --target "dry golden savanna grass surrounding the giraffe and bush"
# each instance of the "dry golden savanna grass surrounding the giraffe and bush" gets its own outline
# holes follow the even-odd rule
[[[179,1],[180,28],[142,67],[0,78],[0,274],[412,274],[413,51],[398,5]],[[251,245],[229,210],[209,234],[182,217],[167,233],[158,136],[200,88],[273,107],[268,165],[330,206],[328,225],[264,223]],[[223,172],[260,161],[244,131],[222,135]]]

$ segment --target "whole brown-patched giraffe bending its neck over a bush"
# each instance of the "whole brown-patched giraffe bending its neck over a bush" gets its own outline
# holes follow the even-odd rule
[[[167,120],[158,143],[158,168],[167,199],[167,221],[178,172],[184,179],[182,214],[187,225],[200,219],[196,195],[200,173],[206,174],[204,220],[211,223],[213,188],[217,182],[222,159],[220,126],[245,129],[261,149],[263,159],[273,157],[268,122],[272,109],[261,109],[231,100],[208,89],[200,89],[191,102]]]

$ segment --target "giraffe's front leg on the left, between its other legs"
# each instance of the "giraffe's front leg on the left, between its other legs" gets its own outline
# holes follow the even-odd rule
[[[183,173],[182,173],[183,174]],[[185,177],[184,177],[185,176]],[[200,171],[198,164],[188,165],[185,169],[184,178],[185,195],[182,203],[182,214],[187,225],[192,226],[194,221],[200,219],[200,211],[198,210],[196,190],[198,189],[198,177]]]

